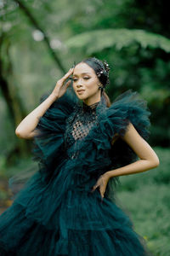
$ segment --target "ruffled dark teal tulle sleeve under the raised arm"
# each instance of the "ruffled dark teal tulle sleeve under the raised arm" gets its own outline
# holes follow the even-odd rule
[[[42,96],[43,102],[48,95]],[[65,157],[64,134],[66,119],[77,103],[76,96],[67,90],[64,96],[55,101],[43,114],[37,124],[37,135],[33,140],[32,160],[39,163],[40,172],[53,172],[54,166]]]

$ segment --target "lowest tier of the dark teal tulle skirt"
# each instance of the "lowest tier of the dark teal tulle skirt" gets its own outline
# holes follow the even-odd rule
[[[45,226],[26,217],[25,208],[14,205],[15,218],[11,218],[11,226],[5,229],[8,233],[4,241],[0,241],[1,256],[145,256],[144,239],[132,229],[123,212],[115,208],[114,213],[120,216],[115,219],[114,229],[103,230],[72,230],[62,234],[59,226],[47,230]],[[6,213],[6,215],[8,212]],[[20,218],[19,218],[20,217]],[[62,219],[65,221],[65,218]],[[121,222],[122,220],[122,222]],[[118,221],[119,225],[118,225]],[[61,222],[61,219],[60,219]],[[14,232],[14,230],[17,230]]]

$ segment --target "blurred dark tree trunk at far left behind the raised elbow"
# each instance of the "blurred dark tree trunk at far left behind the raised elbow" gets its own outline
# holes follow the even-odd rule
[[[3,45],[3,36],[0,38],[0,49]],[[5,59],[5,70],[4,70],[4,48],[3,55],[0,56],[0,89],[2,90],[4,101],[7,104],[8,114],[11,119],[13,130],[15,131],[16,126],[20,124],[21,120],[26,117],[26,110],[20,102],[20,97],[17,94],[17,88],[14,85],[14,75],[12,62],[9,56],[10,44],[6,44],[6,59]],[[0,51],[1,52],[1,51]],[[7,79],[8,78],[8,79]],[[13,79],[12,79],[13,78]],[[7,155],[7,160],[13,159],[13,154],[20,154],[26,156],[30,153],[31,143],[23,139],[18,139],[12,152]]]

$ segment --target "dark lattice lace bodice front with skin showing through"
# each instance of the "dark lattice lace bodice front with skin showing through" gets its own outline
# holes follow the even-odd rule
[[[82,104],[78,102],[75,106],[75,111],[66,121],[65,129],[65,149],[67,150],[68,156],[75,158],[77,155],[77,142],[87,137],[90,129],[97,122],[96,108],[99,102],[87,105],[84,102]],[[75,152],[74,155],[70,154],[69,148],[74,144]]]

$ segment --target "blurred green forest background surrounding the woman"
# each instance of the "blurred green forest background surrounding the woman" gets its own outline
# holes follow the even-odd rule
[[[149,143],[160,166],[121,177],[117,197],[152,253],[169,256],[170,16],[165,0],[0,0],[1,212],[13,202],[9,178],[37,168],[32,142],[16,137],[15,128],[74,61],[88,56],[110,64],[106,92],[111,102],[128,89],[148,102]]]

